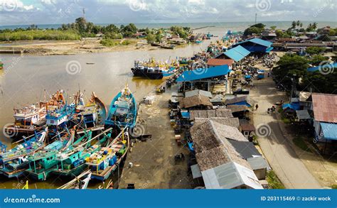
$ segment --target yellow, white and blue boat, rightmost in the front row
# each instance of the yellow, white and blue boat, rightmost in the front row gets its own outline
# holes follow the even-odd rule
[[[92,179],[107,180],[114,170],[119,168],[129,149],[129,133],[126,129],[124,128],[108,146],[100,148],[86,159]]]

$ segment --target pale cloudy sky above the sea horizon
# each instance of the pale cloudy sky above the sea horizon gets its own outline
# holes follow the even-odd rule
[[[0,0],[0,26],[72,23],[337,21],[337,0]]]

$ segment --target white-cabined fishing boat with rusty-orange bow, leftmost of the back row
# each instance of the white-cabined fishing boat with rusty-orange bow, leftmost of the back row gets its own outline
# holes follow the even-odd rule
[[[52,95],[48,102],[39,102],[37,105],[14,109],[14,124],[4,126],[4,132],[11,137],[31,136],[41,131],[46,124],[48,106],[57,107],[65,103],[63,91]]]

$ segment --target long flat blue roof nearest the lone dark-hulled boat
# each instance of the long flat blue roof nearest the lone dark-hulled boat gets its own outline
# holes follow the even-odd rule
[[[230,72],[228,65],[221,65],[217,67],[210,67],[208,69],[197,69],[193,71],[185,71],[178,77],[177,82],[190,82],[194,80],[203,80],[210,77],[219,77],[227,75]]]

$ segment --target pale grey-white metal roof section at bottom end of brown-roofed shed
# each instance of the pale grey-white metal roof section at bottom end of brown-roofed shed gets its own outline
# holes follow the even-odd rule
[[[252,170],[233,162],[205,170],[201,174],[206,189],[232,189],[241,185],[263,189]]]

